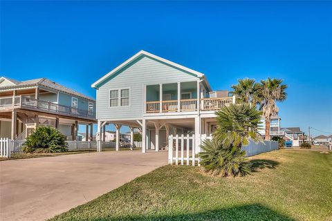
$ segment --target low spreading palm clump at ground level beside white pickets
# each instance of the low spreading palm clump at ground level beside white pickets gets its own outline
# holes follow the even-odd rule
[[[222,142],[216,139],[203,142],[203,151],[199,153],[199,157],[205,172],[223,177],[248,175],[250,167],[245,158],[246,151],[237,146],[225,148],[222,145]]]

